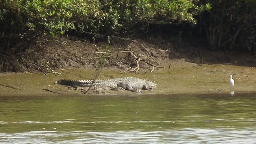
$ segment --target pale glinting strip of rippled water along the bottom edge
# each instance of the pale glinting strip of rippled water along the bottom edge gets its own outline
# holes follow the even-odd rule
[[[166,131],[30,131],[26,133],[0,134],[0,143],[5,144],[89,144],[89,143],[247,143],[256,141],[256,129],[181,129]]]

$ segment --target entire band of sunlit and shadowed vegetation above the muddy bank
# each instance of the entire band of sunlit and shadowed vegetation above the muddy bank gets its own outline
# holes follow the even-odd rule
[[[191,30],[204,37],[212,51],[254,53],[254,7],[255,0],[3,0],[0,56],[6,61],[10,55],[19,59],[49,37],[95,41],[159,27],[170,35],[174,28],[179,33]]]

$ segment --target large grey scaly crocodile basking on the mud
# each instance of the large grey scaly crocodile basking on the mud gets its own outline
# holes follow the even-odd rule
[[[142,90],[153,90],[157,87],[156,83],[148,79],[139,79],[134,77],[115,78],[115,79],[96,79],[93,80],[72,80],[72,79],[59,79],[55,84],[68,85],[72,87],[104,87],[109,89],[122,88],[132,92],[142,92]],[[92,85],[91,85],[92,84]]]

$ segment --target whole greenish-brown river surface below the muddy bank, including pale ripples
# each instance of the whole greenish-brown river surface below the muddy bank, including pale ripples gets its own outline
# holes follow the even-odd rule
[[[0,96],[0,143],[256,143],[256,94]]]

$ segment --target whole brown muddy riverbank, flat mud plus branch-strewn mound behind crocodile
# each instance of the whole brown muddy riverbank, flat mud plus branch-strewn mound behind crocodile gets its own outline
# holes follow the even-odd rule
[[[230,74],[236,81],[235,92],[256,91],[256,59],[252,55],[210,52],[195,42],[184,43],[180,48],[171,41],[153,40],[117,41],[106,49],[104,43],[59,39],[42,50],[32,49],[27,60],[22,57],[15,67],[21,68],[22,73],[0,73],[0,95],[83,94],[54,82],[58,79],[93,79],[102,55],[106,57],[106,67],[98,79],[130,76],[158,84],[154,91],[143,91],[143,94],[229,92]],[[162,66],[165,68],[160,68]],[[47,76],[43,76],[43,71]],[[89,93],[95,94],[94,91]],[[105,95],[108,94],[134,93],[108,90]]]

